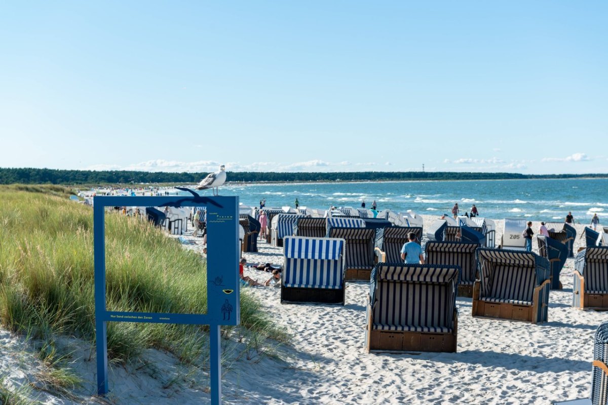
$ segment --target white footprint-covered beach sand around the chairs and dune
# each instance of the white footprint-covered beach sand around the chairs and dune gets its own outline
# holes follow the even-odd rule
[[[434,216],[424,216],[425,227]],[[537,230],[534,222],[533,229]],[[497,230],[502,232],[502,221]],[[576,225],[578,235],[582,225]],[[191,237],[188,237],[190,239]],[[200,238],[185,248],[202,251]],[[497,235],[500,240],[500,234]],[[577,236],[575,251],[584,242]],[[248,264],[282,265],[282,248],[258,243]],[[536,249],[536,240],[534,240]],[[225,367],[226,404],[548,404],[589,396],[593,334],[606,313],[572,308],[573,259],[561,273],[564,289],[551,291],[548,322],[529,324],[471,317],[471,299],[457,298],[457,353],[365,353],[368,283],[349,282],[346,304],[280,304],[280,289],[248,287],[264,310],[291,334],[277,349],[284,361],[241,358]],[[246,267],[264,281],[269,273]],[[40,364],[21,338],[0,332],[5,384],[35,379]],[[111,366],[112,392],[96,398],[94,350],[77,339],[72,367],[85,379],[74,398],[33,390],[44,404],[209,403],[208,381],[189,381],[187,370],[159,350],[142,364]],[[176,377],[177,376],[177,377]],[[171,384],[173,379],[179,383]],[[186,382],[187,381],[187,382]]]

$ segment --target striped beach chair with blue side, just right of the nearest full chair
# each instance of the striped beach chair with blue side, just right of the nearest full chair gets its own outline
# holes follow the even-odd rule
[[[520,250],[478,248],[476,254],[472,316],[547,322],[549,260]]]

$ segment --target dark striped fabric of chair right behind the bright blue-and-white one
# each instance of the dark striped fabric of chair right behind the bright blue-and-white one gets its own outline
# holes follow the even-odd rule
[[[344,260],[346,267],[357,270],[371,270],[374,267],[373,228],[330,228],[327,237],[346,240]]]

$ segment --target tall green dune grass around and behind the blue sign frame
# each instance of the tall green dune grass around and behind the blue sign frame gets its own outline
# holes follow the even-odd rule
[[[35,339],[95,338],[92,209],[67,200],[70,194],[58,186],[0,186],[0,322]],[[106,214],[106,277],[109,310],[206,313],[204,260],[147,222]],[[247,291],[241,327],[257,342],[286,339]],[[108,355],[128,361],[155,347],[200,364],[205,331],[109,322]]]

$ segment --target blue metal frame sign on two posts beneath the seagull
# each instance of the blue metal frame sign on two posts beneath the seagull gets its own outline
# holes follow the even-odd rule
[[[192,192],[192,191],[191,191]],[[107,322],[150,322],[209,325],[211,403],[221,404],[220,326],[238,325],[238,197],[106,197],[93,199],[95,255],[95,333],[97,335],[97,393],[108,393]],[[207,207],[207,313],[140,313],[106,308],[106,206],[206,206]]]

